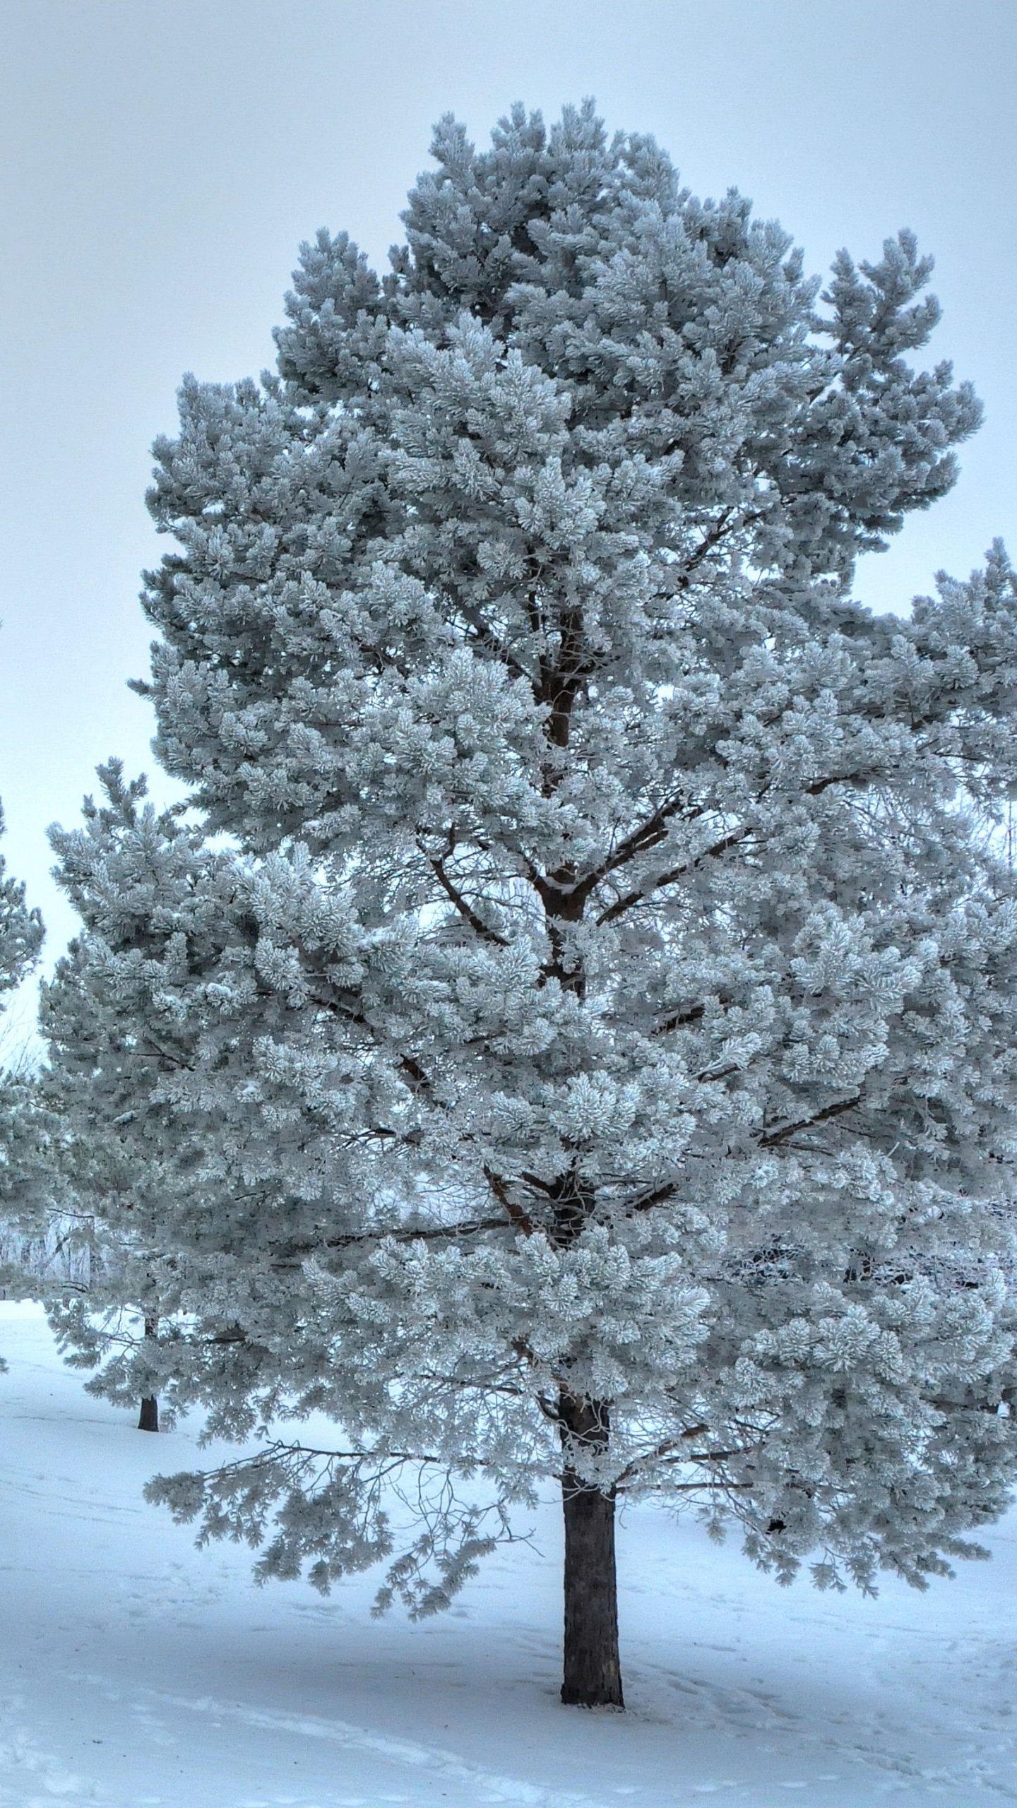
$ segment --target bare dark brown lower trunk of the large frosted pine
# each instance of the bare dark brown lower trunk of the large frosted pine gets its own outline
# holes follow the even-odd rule
[[[574,1437],[603,1445],[606,1408],[563,1399]],[[565,1436],[565,1427],[563,1427]],[[624,1707],[617,1643],[615,1493],[601,1493],[575,1470],[563,1470],[565,1510],[565,1680],[568,1707]]]

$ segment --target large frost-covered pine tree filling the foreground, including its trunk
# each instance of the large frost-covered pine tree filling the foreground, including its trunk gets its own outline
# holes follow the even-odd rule
[[[590,108],[434,155],[157,443],[195,815],[58,835],[47,1027],[161,1313],[94,1385],[273,1428],[156,1497],[429,1611],[554,1477],[621,1703],[619,1497],[863,1587],[1006,1502],[1017,586],[852,597],[979,416],[908,233],[818,298]]]

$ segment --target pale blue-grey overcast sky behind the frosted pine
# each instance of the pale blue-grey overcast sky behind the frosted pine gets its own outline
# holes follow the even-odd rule
[[[993,535],[1017,548],[1015,76],[1013,0],[0,0],[0,796],[49,956],[74,922],[47,823],[98,759],[152,765],[125,689],[161,550],[150,441],[183,371],[270,363],[302,239],[347,228],[384,260],[442,112],[487,143],[514,99],[585,94],[697,193],[780,217],[813,269],[912,226],[932,356],[986,425],[954,494],[861,566],[863,598],[907,607]]]

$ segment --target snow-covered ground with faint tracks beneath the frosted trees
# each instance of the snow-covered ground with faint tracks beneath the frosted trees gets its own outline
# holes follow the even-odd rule
[[[1017,1517],[928,1595],[778,1589],[697,1526],[621,1531],[630,1709],[557,1700],[559,1526],[440,1620],[250,1580],[141,1501],[192,1463],[0,1305],[0,1804],[753,1808],[1017,1801]]]

